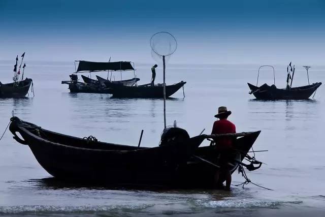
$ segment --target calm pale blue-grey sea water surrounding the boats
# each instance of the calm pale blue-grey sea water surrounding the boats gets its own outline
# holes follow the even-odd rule
[[[325,212],[325,89],[314,100],[255,101],[248,95],[247,82],[256,82],[257,65],[168,65],[167,83],[181,80],[180,89],[167,101],[167,123],[198,135],[210,133],[218,106],[233,112],[237,131],[262,130],[257,138],[256,158],[265,162],[261,169],[247,172],[255,183],[233,187],[233,191],[140,191],[102,189],[57,183],[35,160],[28,146],[12,139],[9,131],[0,141],[0,215],[47,216],[134,216],[223,215],[259,216],[295,214],[315,216]],[[1,82],[10,82],[13,63],[0,62]],[[150,66],[136,65],[140,83],[150,82]],[[293,86],[305,85],[307,75],[296,67]],[[285,86],[286,66],[276,65],[276,85]],[[163,101],[157,99],[111,99],[110,95],[70,94],[61,80],[74,72],[71,63],[31,62],[25,76],[34,81],[35,97],[0,99],[0,130],[3,132],[11,111],[26,121],[52,131],[78,137],[93,135],[100,141],[142,146],[158,145],[164,127]],[[161,68],[157,70],[162,81]],[[106,74],[99,74],[103,77]],[[124,73],[123,78],[131,78]],[[309,70],[310,81],[325,81],[325,67]],[[93,75],[94,77],[94,75]],[[119,79],[120,74],[113,74]],[[272,83],[272,71],[261,71],[260,81]],[[208,145],[205,142],[203,145]],[[233,175],[233,184],[243,182]]]

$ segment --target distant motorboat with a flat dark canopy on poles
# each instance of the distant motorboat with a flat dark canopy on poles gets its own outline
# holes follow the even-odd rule
[[[110,90],[105,85],[101,84],[101,82],[98,80],[94,80],[84,75],[81,75],[84,82],[78,81],[77,73],[89,72],[91,75],[91,72],[107,71],[109,73],[111,71],[111,76],[112,76],[113,71],[114,72],[120,71],[121,78],[122,78],[122,71],[133,71],[135,75],[135,69],[131,64],[132,62],[128,62],[128,61],[119,61],[119,62],[109,61],[107,63],[101,63],[101,62],[79,60],[79,61],[75,61],[75,64],[77,62],[79,63],[78,68],[76,69],[76,72],[74,74],[70,75],[71,80],[61,81],[61,84],[69,85],[69,89],[71,92],[88,92],[88,93],[99,93],[99,94],[111,93]],[[112,81],[112,82],[120,85],[134,85],[139,80],[140,79],[136,78],[135,76],[133,79],[128,79],[128,80],[121,79],[120,81]]]

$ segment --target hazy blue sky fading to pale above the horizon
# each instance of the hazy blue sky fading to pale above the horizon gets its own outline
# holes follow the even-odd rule
[[[0,60],[150,64],[161,31],[174,64],[325,65],[325,0],[0,1]]]

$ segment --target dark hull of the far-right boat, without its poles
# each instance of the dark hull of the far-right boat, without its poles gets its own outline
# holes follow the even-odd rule
[[[317,90],[321,82],[307,86],[293,87],[290,89],[278,89],[274,85],[255,86],[247,83],[254,97],[258,100],[306,100]]]

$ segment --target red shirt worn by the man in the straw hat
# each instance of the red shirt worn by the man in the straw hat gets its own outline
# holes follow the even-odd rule
[[[211,134],[236,133],[236,126],[227,119],[214,121]],[[215,139],[217,146],[220,148],[231,148],[233,140],[231,138]]]

